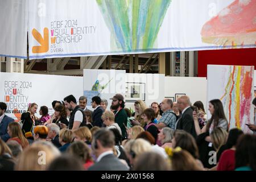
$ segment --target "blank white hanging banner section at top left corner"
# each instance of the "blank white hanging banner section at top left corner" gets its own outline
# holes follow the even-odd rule
[[[0,56],[27,58],[27,7],[27,0],[0,0]]]

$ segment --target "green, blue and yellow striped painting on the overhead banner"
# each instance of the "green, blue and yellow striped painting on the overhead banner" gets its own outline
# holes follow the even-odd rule
[[[118,48],[126,51],[154,46],[171,0],[96,0]]]

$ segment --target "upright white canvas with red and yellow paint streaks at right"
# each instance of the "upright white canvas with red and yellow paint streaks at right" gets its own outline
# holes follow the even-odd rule
[[[229,129],[251,132],[245,124],[253,123],[254,67],[208,65],[207,78],[208,101],[222,101]]]

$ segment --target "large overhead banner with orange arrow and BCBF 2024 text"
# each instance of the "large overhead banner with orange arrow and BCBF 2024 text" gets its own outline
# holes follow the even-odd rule
[[[256,47],[256,0],[30,0],[30,59]]]

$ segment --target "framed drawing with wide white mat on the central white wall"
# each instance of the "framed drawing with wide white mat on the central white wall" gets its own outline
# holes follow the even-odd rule
[[[137,100],[145,101],[146,83],[126,82],[125,100],[126,102],[135,102]]]

